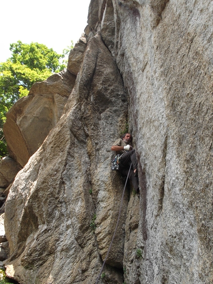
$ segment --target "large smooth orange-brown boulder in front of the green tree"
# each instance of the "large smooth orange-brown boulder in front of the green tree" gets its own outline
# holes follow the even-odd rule
[[[22,167],[38,150],[59,120],[75,76],[68,70],[36,83],[6,114],[3,125],[9,156]]]

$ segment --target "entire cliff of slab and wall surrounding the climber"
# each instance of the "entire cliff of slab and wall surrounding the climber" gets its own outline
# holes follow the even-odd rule
[[[128,122],[140,199],[128,188],[99,283],[213,283],[212,11],[210,0],[91,1],[75,86],[7,197],[9,277],[96,283],[124,183],[110,146]]]

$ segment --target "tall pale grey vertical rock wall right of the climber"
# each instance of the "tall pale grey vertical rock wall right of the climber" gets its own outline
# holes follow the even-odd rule
[[[101,31],[129,94],[142,188],[126,283],[213,281],[212,11],[212,1],[106,3]]]

